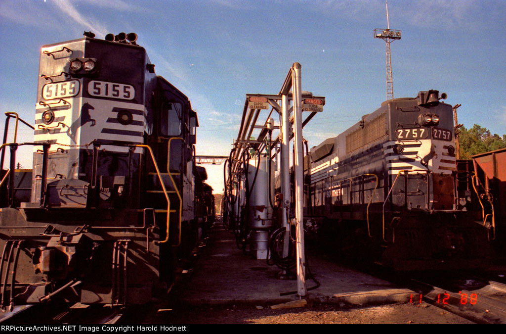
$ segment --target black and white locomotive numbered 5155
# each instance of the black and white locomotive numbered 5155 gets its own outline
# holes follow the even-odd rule
[[[3,146],[4,309],[144,303],[212,219],[189,99],[156,76],[135,33],[94,36],[41,48],[34,142]],[[33,146],[32,173],[15,170],[19,145]]]

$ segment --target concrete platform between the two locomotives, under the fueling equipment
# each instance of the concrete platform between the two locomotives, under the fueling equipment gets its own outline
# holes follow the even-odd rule
[[[308,256],[308,255],[307,255]],[[326,261],[322,256],[308,256],[310,269],[321,286],[308,291],[311,302],[345,305],[376,305],[408,302],[413,293],[394,284]],[[207,246],[197,261],[191,279],[185,284],[180,302],[188,306],[259,305],[269,307],[299,300],[297,281],[280,280],[280,269],[265,260],[254,259],[237,249],[234,235],[217,222]],[[306,285],[315,285],[310,279]]]

